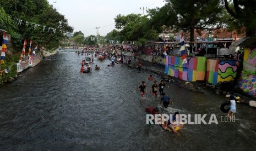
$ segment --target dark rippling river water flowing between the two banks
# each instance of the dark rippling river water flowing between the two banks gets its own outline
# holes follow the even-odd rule
[[[256,150],[255,108],[237,104],[236,120],[225,122],[224,96],[166,82],[174,103],[160,113],[207,114],[207,123],[215,114],[218,121],[171,133],[146,124],[145,107],[158,106],[160,97],[148,93],[143,101],[135,89],[145,80],[150,91],[150,72],[95,59],[101,69],[80,74],[83,58],[59,52],[0,86],[0,150]]]

